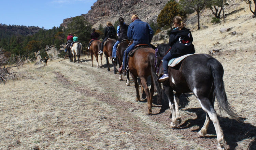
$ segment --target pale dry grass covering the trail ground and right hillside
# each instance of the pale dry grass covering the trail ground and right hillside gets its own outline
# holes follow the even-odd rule
[[[214,57],[224,67],[228,100],[245,119],[245,123],[237,123],[225,113],[219,119],[228,139],[229,146],[225,147],[236,150],[256,147],[252,136],[256,131],[256,18],[250,18],[247,5],[237,5],[236,9],[240,7],[245,9],[229,15],[225,23],[211,25],[205,19],[201,22],[209,28],[192,32],[196,53],[221,49],[221,55]],[[220,33],[221,28],[232,28],[238,34]],[[112,67],[111,72],[106,65],[91,67],[88,57],[83,56],[82,63],[63,59],[50,61],[47,66],[29,63],[18,71],[26,77],[0,84],[1,150],[216,148],[212,123],[208,138],[196,137],[198,120],[205,114],[195,96],[181,101],[183,128],[171,130],[169,109],[147,116],[146,103],[134,101],[133,83],[127,87],[125,78],[119,81]],[[217,103],[215,108],[220,114]],[[153,107],[153,113],[159,109]]]

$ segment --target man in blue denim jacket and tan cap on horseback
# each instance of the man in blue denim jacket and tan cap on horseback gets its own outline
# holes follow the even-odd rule
[[[133,40],[133,43],[124,51],[123,70],[125,71],[128,62],[129,52],[138,44],[147,44],[150,46],[154,32],[150,25],[141,21],[138,15],[132,15],[131,24],[128,27],[127,36]],[[125,72],[124,72],[125,74]]]

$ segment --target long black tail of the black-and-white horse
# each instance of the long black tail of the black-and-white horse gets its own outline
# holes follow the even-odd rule
[[[230,104],[228,103],[227,95],[224,88],[224,81],[223,81],[223,66],[222,64],[217,61],[215,58],[211,58],[207,61],[208,67],[211,69],[213,82],[214,82],[214,91],[216,93],[216,98],[218,101],[218,106],[220,110],[225,110],[227,114],[236,119],[237,121],[241,121],[238,118],[238,115],[234,113],[234,110],[231,108]]]

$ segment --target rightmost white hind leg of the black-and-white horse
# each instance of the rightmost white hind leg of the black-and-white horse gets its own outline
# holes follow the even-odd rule
[[[196,95],[196,93],[195,93],[195,95]],[[216,111],[214,110],[210,100],[207,97],[198,98],[198,100],[199,100],[203,110],[209,115],[210,119],[213,122],[215,131],[216,131],[216,134],[217,134],[217,141],[218,141],[217,150],[224,150],[225,149],[224,146],[223,146],[224,143],[225,143],[224,135],[223,135],[223,131],[221,129],[221,126],[219,125],[219,120],[217,118]],[[205,123],[205,125],[203,127],[205,127],[205,129],[207,129],[206,127],[208,127],[208,124],[209,124],[208,117],[206,117],[204,123]],[[200,136],[200,133],[199,133],[199,136]]]

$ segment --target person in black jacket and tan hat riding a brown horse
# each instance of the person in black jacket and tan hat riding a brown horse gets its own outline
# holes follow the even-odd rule
[[[104,42],[109,38],[116,39],[116,30],[110,21],[107,22],[107,27],[104,30],[105,39],[101,43],[101,49],[98,54],[102,55]]]

